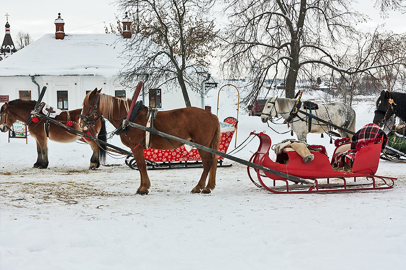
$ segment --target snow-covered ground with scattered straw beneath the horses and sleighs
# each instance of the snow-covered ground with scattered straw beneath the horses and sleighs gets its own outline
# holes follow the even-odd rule
[[[307,96],[302,99],[318,98]],[[217,93],[211,98],[216,113]],[[236,97],[220,97],[220,120],[236,116]],[[373,98],[354,105],[357,129],[373,119]],[[263,131],[290,138],[240,110],[237,145]],[[108,127],[112,129],[112,127]],[[286,125],[274,126],[280,131]],[[234,134],[235,136],[235,134]],[[308,142],[329,138],[309,134]],[[118,138],[111,141],[119,146]],[[255,138],[235,154],[249,159]],[[234,146],[228,149],[231,151]],[[36,144],[0,134],[0,269],[404,269],[405,164],[380,161],[393,189],[333,194],[271,194],[246,166],[218,168],[211,194],[191,194],[200,168],[139,173],[108,157],[89,171],[91,150],[49,141],[49,167],[32,168]],[[275,156],[272,156],[275,157]]]

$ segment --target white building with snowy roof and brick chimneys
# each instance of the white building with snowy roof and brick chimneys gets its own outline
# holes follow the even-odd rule
[[[43,36],[0,62],[2,100],[6,96],[9,100],[36,100],[43,86],[47,87],[43,101],[63,110],[81,108],[86,93],[94,88],[103,88],[102,93],[113,96],[132,97],[134,89],[123,88],[117,77],[123,66],[120,55],[125,38],[117,34],[64,33],[60,14],[54,23],[55,34]],[[162,110],[185,107],[180,89],[162,88],[155,93],[162,94]],[[189,95],[192,106],[201,107],[200,94]],[[148,106],[149,96],[141,98]]]

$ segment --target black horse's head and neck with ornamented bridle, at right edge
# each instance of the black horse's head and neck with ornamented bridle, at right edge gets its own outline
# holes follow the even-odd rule
[[[393,115],[406,122],[406,93],[384,90],[377,100],[373,122],[382,127]]]

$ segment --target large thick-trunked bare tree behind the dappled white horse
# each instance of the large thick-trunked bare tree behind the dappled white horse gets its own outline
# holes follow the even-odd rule
[[[245,103],[252,102],[269,77],[284,77],[285,95],[293,97],[296,82],[314,69],[329,69],[340,73],[333,77],[341,77],[380,67],[367,65],[369,59],[377,62],[380,57],[366,49],[371,41],[354,46],[361,37],[355,25],[365,17],[346,0],[235,0],[232,7],[223,68],[242,73],[253,61],[259,66],[254,91]],[[351,54],[358,57],[356,63],[343,61]]]

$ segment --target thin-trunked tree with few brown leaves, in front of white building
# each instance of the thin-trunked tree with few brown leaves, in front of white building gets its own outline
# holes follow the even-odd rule
[[[185,105],[190,107],[187,89],[201,90],[210,76],[207,57],[216,47],[218,31],[209,18],[210,1],[202,0],[117,0],[123,10],[137,14],[137,35],[127,43],[128,63],[120,76],[125,85],[139,78],[154,87],[179,85]],[[139,15],[139,16],[138,16]],[[134,29],[133,29],[134,30]],[[140,53],[141,51],[141,53]]]

